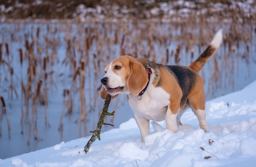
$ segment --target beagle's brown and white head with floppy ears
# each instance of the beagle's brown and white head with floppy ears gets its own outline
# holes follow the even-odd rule
[[[105,68],[105,76],[101,79],[103,87],[101,98],[107,93],[115,98],[118,94],[137,96],[146,86],[148,76],[145,67],[131,56],[121,56],[110,62]]]

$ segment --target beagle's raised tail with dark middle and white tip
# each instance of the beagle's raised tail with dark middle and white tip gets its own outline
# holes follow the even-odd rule
[[[191,69],[195,70],[196,72],[199,72],[204,67],[205,63],[216,52],[216,50],[220,46],[221,41],[222,41],[222,29],[220,29],[215,34],[215,36],[213,37],[213,40],[211,41],[209,46],[194,62],[192,62],[192,64],[189,67]]]

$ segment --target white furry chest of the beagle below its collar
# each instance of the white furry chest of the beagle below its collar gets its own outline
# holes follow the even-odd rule
[[[170,94],[162,87],[149,87],[141,97],[131,94],[128,97],[128,103],[137,116],[156,121],[165,119]]]

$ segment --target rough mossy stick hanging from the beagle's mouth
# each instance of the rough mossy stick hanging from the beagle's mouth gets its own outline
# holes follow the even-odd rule
[[[97,128],[96,130],[94,131],[90,131],[93,133],[92,137],[90,138],[90,140],[88,141],[87,145],[85,145],[84,147],[84,150],[85,153],[88,153],[89,151],[89,148],[91,147],[92,143],[96,140],[96,138],[98,138],[99,140],[101,140],[101,127],[102,125],[106,125],[104,123],[104,119],[106,116],[113,116],[115,111],[113,111],[112,113],[109,113],[108,112],[108,106],[110,104],[110,100],[111,100],[111,95],[108,94],[107,97],[106,97],[106,100],[105,100],[105,104],[104,104],[104,107],[103,107],[103,110],[102,110],[102,113],[101,113],[101,116],[99,117],[99,122],[97,124]]]

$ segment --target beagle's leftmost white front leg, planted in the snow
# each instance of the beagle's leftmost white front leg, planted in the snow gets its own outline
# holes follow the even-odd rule
[[[135,114],[135,120],[140,130],[141,141],[144,142],[144,137],[149,135],[149,120],[147,120],[146,118],[137,116],[136,114]]]

